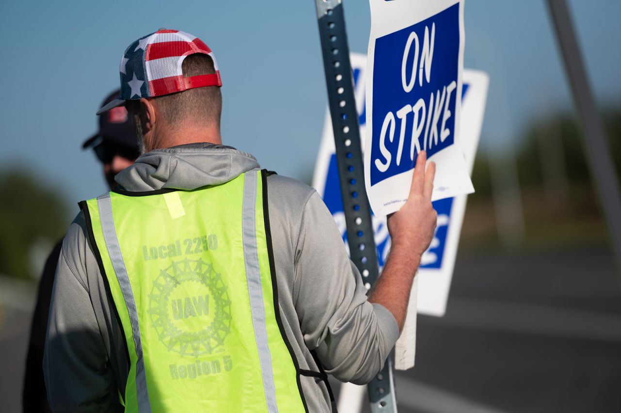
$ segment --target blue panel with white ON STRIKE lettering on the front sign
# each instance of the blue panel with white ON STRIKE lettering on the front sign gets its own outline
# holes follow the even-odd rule
[[[370,184],[455,142],[459,4],[375,40]]]

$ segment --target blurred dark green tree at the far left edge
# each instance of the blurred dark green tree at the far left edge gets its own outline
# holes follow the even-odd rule
[[[0,273],[32,278],[35,244],[53,246],[69,224],[63,195],[24,169],[0,171]]]

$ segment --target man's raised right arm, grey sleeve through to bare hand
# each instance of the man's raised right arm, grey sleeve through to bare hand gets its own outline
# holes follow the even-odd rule
[[[304,207],[294,249],[294,305],[304,342],[339,380],[368,383],[399,336],[420,255],[435,229],[435,167],[425,184],[425,161],[424,155],[417,161],[408,202],[389,218],[392,252],[372,300],[322,200],[314,193]]]

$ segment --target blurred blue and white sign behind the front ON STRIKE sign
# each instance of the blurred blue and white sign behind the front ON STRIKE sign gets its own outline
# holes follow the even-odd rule
[[[365,71],[366,56],[352,53],[350,56],[351,68],[355,84],[356,109],[360,122],[360,136],[365,136]],[[463,87],[461,90],[462,111],[467,116],[461,121],[461,148],[466,157],[466,163],[471,169],[474,155],[478,146],[479,134],[483,123],[485,98],[487,94],[487,75],[480,71],[465,69],[463,73]],[[364,138],[361,144],[364,149]],[[337,158],[335,154],[332,123],[329,113],[326,114],[319,156],[315,164],[313,187],[324,200],[325,205],[332,213],[338,229],[347,245],[347,229],[345,214],[338,180]],[[420,286],[429,299],[420,300],[419,311],[424,314],[442,315],[445,308],[446,296],[450,287],[450,273],[456,255],[456,243],[460,236],[463,211],[466,197],[445,198],[433,202],[433,208],[438,213],[438,221],[433,240],[427,251],[422,255],[419,275],[425,278],[427,273],[433,274],[436,280],[443,278],[442,286],[434,285],[434,291],[425,290],[425,283]],[[374,238],[378,249],[379,266],[383,267],[390,249],[390,236],[386,226],[386,217],[372,216]],[[449,236],[450,234],[450,236]],[[453,246],[455,244],[455,246]],[[442,290],[442,291],[439,291]]]

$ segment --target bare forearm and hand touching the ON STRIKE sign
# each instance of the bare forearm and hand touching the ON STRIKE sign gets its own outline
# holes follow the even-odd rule
[[[437,219],[431,205],[435,164],[431,162],[425,171],[426,161],[427,154],[420,152],[407,202],[388,217],[388,231],[392,238],[390,254],[369,297],[371,303],[381,304],[392,313],[399,331],[406,321],[407,302],[420,256],[431,243]]]

